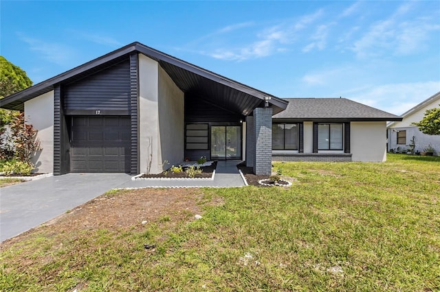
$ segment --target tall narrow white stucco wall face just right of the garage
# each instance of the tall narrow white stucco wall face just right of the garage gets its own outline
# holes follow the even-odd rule
[[[139,54],[139,167],[140,172],[160,173],[159,157],[159,64]],[[151,157],[152,156],[152,157]]]

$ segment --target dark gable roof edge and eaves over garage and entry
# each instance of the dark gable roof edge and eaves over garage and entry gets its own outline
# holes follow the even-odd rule
[[[87,77],[111,66],[111,64],[121,62],[121,60],[128,58],[131,53],[142,53],[156,60],[184,93],[190,92],[199,95],[214,104],[232,108],[243,115],[250,114],[258,106],[263,106],[265,97],[270,97],[269,103],[274,108],[274,112],[280,112],[287,107],[287,101],[283,99],[157,51],[142,45],[140,42],[133,42],[65,73],[21,90],[19,93],[0,99],[0,108],[23,110],[25,101],[53,90],[56,84],[70,83]]]

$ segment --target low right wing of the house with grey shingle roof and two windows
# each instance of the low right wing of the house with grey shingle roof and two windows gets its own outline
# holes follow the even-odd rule
[[[386,160],[386,121],[399,117],[344,98],[285,100],[272,119],[273,160]]]

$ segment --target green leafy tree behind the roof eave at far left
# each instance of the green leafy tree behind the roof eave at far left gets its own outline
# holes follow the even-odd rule
[[[26,72],[0,56],[0,99],[32,86]],[[0,109],[0,129],[14,118],[12,110]]]

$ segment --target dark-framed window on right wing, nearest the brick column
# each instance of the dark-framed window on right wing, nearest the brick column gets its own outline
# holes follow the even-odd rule
[[[272,149],[298,150],[298,124],[272,124]]]

